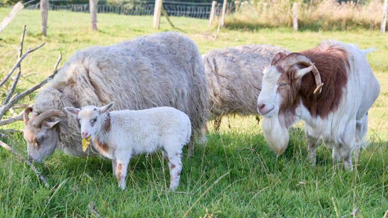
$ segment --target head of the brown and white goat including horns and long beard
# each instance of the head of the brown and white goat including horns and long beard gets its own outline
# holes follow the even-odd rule
[[[319,94],[323,83],[315,65],[301,53],[286,55],[278,52],[270,66],[263,66],[262,90],[257,99],[258,112],[263,116],[263,133],[269,147],[281,154],[288,145],[288,129],[293,119],[287,118],[289,109],[299,102],[301,78],[312,72],[316,82],[315,90]]]

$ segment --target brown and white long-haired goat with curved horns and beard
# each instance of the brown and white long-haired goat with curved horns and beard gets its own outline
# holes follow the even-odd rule
[[[345,168],[353,169],[352,152],[357,160],[368,110],[380,92],[365,57],[369,51],[325,41],[299,53],[277,53],[264,71],[257,102],[269,147],[281,154],[288,129],[303,120],[313,165],[322,140],[332,147],[334,160],[343,158]]]

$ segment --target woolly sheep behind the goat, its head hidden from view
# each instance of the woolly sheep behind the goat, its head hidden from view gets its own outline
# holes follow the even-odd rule
[[[224,115],[257,115],[256,100],[263,77],[261,66],[279,51],[289,52],[273,45],[250,44],[214,49],[202,56],[216,131]],[[253,85],[257,88],[252,89]]]

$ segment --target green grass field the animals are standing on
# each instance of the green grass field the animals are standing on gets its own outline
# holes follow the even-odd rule
[[[0,8],[0,19],[9,11]],[[1,78],[15,63],[22,25],[27,25],[26,47],[46,42],[23,62],[24,74],[37,74],[22,78],[20,89],[51,74],[59,51],[66,61],[78,49],[157,32],[151,28],[152,17],[99,14],[99,31],[92,32],[88,14],[50,11],[48,34],[42,37],[39,19],[38,11],[21,11],[0,34]],[[56,151],[50,159],[36,164],[52,186],[47,189],[27,165],[0,149],[1,217],[90,217],[87,206],[91,201],[104,217],[351,217],[356,208],[357,217],[384,215],[388,210],[387,35],[367,30],[221,30],[218,39],[213,40],[216,27],[207,27],[207,20],[171,20],[179,29],[171,28],[162,18],[159,31],[187,34],[201,53],[249,43],[270,43],[295,51],[323,39],[378,49],[368,55],[368,60],[379,79],[381,93],[369,113],[369,145],[361,151],[359,165],[347,172],[341,164],[333,163],[330,150],[321,146],[317,166],[309,166],[301,124],[291,130],[285,153],[276,157],[266,146],[254,117],[224,119],[220,133],[214,133],[209,123],[207,144],[196,145],[194,155],[183,158],[180,185],[173,193],[167,191],[168,167],[160,152],[133,158],[127,189],[121,191],[108,159],[72,157]],[[0,89],[1,99],[5,90]],[[33,96],[24,101],[32,103]],[[23,124],[2,128],[22,130]],[[0,139],[26,155],[22,134]]]

